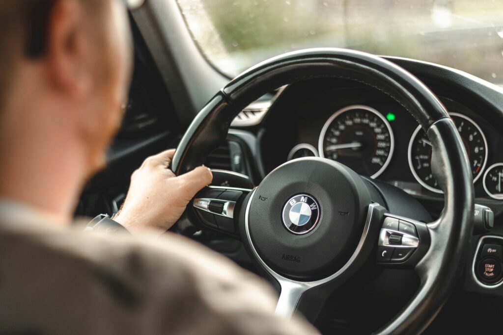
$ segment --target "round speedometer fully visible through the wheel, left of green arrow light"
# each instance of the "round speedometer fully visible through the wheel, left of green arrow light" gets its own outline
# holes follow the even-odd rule
[[[388,121],[379,111],[364,105],[336,111],[323,126],[318,141],[321,157],[338,161],[371,178],[386,169],[393,148]]]

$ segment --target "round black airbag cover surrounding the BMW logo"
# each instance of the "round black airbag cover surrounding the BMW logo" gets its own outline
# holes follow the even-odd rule
[[[287,202],[306,194],[319,205],[317,225],[304,235],[287,229]],[[361,177],[323,158],[301,158],[272,171],[250,203],[251,242],[264,262],[283,276],[316,280],[337,272],[363,233],[370,195]]]

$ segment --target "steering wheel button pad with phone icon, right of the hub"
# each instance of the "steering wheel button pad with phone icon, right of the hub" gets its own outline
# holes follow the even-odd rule
[[[387,213],[379,232],[377,262],[393,268],[415,268],[430,244],[427,224]]]

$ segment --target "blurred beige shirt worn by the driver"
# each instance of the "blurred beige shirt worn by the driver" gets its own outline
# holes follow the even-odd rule
[[[310,334],[260,278],[183,237],[100,236],[0,202],[0,333]]]

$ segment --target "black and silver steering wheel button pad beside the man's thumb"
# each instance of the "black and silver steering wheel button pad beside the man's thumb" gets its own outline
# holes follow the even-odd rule
[[[191,210],[200,226],[239,239],[238,217],[248,188],[208,186],[196,194]]]

